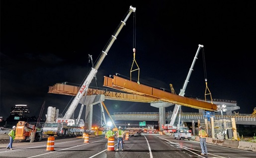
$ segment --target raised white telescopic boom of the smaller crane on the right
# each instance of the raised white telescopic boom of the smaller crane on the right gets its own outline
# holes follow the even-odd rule
[[[189,82],[189,78],[190,78],[190,76],[191,76],[191,73],[192,73],[192,70],[193,70],[193,67],[194,67],[194,65],[195,65],[195,61],[196,61],[196,59],[197,59],[197,56],[198,56],[198,53],[199,53],[199,51],[200,51],[200,49],[203,47],[203,45],[198,45],[198,49],[197,49],[197,51],[196,51],[196,54],[195,54],[195,57],[194,57],[194,60],[193,60],[193,62],[192,62],[192,65],[191,65],[191,67],[190,67],[190,69],[189,69],[189,71],[188,71],[188,74],[187,74],[187,77],[186,77],[186,79],[185,79],[185,82],[184,82],[184,84],[183,84],[183,87],[182,87],[182,89],[180,89],[180,92],[179,92],[179,94],[178,95],[180,95],[180,96],[184,96],[185,95],[185,90],[186,90],[186,87],[187,87],[187,83]],[[173,108],[173,112],[172,112],[172,115],[171,115],[171,122],[170,122],[170,124],[173,126],[173,124],[174,124],[174,122],[175,122],[175,120],[176,120],[176,117],[177,117],[177,114],[178,114],[178,111],[179,111],[179,109],[180,109],[180,106],[181,105],[179,105],[179,104],[175,104],[175,106],[174,106],[174,108]],[[179,122],[179,121],[178,121]],[[179,124],[179,123],[178,123]]]

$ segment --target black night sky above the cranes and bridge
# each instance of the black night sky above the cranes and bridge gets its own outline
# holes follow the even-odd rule
[[[48,106],[65,114],[72,97],[50,94],[48,86],[62,82],[81,84],[92,66],[88,54],[96,63],[130,5],[136,7],[135,16],[131,14],[99,67],[98,87],[106,88],[103,76],[118,73],[130,79],[135,47],[141,84],[171,91],[171,83],[178,94],[201,44],[204,47],[185,96],[204,99],[207,79],[212,98],[237,101],[240,110],[236,112],[251,114],[256,107],[254,0],[1,0],[0,3],[0,116],[4,118],[15,104],[27,104],[30,116],[38,116],[44,101],[43,117]],[[132,77],[137,79],[138,75]],[[95,83],[93,79],[90,87],[95,88]],[[159,112],[149,103],[110,100],[104,103],[110,114]],[[93,119],[98,119],[98,106],[94,107]],[[75,115],[79,109],[80,105]],[[184,106],[182,110],[198,112]]]

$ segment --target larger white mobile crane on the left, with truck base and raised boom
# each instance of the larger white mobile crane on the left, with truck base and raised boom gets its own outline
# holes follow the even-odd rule
[[[96,73],[98,71],[98,68],[100,67],[101,63],[103,62],[104,58],[106,57],[108,51],[110,50],[112,44],[114,43],[114,41],[117,39],[117,36],[118,34],[120,33],[121,29],[123,28],[123,26],[126,24],[126,21],[127,19],[129,18],[129,16],[131,15],[132,12],[135,12],[136,8],[135,7],[132,7],[130,6],[125,18],[123,20],[121,20],[120,24],[118,25],[117,29],[115,30],[114,32],[114,35],[112,35],[107,43],[107,45],[104,47],[104,49],[101,51],[101,54],[98,58],[98,60],[96,61],[96,64],[94,67],[92,67],[88,73],[88,75],[86,76],[83,84],[81,85],[80,89],[78,90],[78,93],[77,95],[75,96],[75,98],[73,99],[72,103],[70,104],[67,112],[65,113],[65,115],[62,117],[62,118],[57,118],[55,119],[56,120],[56,123],[59,123],[59,124],[62,124],[62,128],[61,128],[61,132],[60,131],[51,131],[49,127],[47,127],[45,124],[44,127],[47,127],[47,128],[43,128],[43,131],[45,134],[48,134],[48,135],[53,135],[53,134],[62,134],[63,136],[67,136],[67,135],[70,135],[69,131],[70,130],[70,127],[82,127],[81,124],[84,124],[84,120],[80,120],[81,118],[81,114],[82,114],[82,110],[83,110],[83,107],[84,107],[84,104],[82,104],[81,106],[81,109],[80,109],[80,112],[79,112],[79,117],[78,119],[74,120],[71,119],[71,117],[73,116],[79,102],[81,101],[81,99],[83,98],[83,96],[86,97],[87,95],[87,92],[88,92],[88,87],[89,87],[89,84],[91,83],[92,79],[94,77],[96,77]],[[90,58],[90,56],[89,56]],[[95,78],[96,79],[96,78]],[[85,99],[84,97],[84,99]],[[84,102],[84,101],[83,101]],[[54,113],[55,113],[55,108],[51,107],[52,112],[53,113],[53,116],[54,116]],[[48,110],[48,111],[51,111]],[[47,112],[47,115],[48,115],[48,112]],[[56,113],[55,113],[56,115]],[[53,124],[53,121],[54,119],[51,119],[49,124]],[[47,123],[47,122],[46,122]],[[49,125],[50,126],[50,125]],[[56,125],[55,125],[56,126]],[[57,125],[58,126],[58,125]],[[73,128],[74,129],[74,128]],[[71,132],[72,133],[72,132]],[[79,131],[79,133],[81,133],[81,131]],[[74,132],[71,134],[71,135],[76,135],[77,132],[74,130]],[[80,135],[80,134],[79,134]]]

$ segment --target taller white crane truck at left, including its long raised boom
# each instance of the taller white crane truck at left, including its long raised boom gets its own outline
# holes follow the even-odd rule
[[[101,51],[101,54],[96,61],[95,67],[92,67],[85,78],[85,81],[83,82],[82,86],[80,87],[76,97],[73,99],[72,103],[70,104],[67,112],[65,115],[59,116],[58,111],[51,112],[48,114],[47,112],[47,117],[50,117],[49,120],[46,121],[44,127],[43,127],[43,133],[47,135],[60,135],[60,136],[70,136],[70,135],[81,135],[81,132],[84,131],[84,120],[80,119],[81,114],[83,111],[84,104],[82,103],[80,113],[77,119],[74,119],[74,112],[75,109],[77,108],[79,102],[81,99],[86,97],[88,87],[92,79],[96,76],[96,73],[98,71],[99,66],[103,62],[104,58],[106,57],[109,49],[111,48],[112,44],[114,41],[117,39],[117,36],[123,26],[125,25],[125,22],[129,18],[132,12],[135,12],[136,8],[130,6],[129,11],[124,18],[118,25],[116,31],[114,32],[114,35],[111,36],[110,40],[108,41],[107,45],[104,47],[104,49]],[[56,113],[57,112],[57,113]],[[73,116],[73,118],[72,118]],[[54,126],[54,127],[50,127]]]

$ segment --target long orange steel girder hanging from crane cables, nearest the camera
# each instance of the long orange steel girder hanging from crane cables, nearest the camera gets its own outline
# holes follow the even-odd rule
[[[158,98],[158,100],[161,100],[164,102],[171,102],[174,104],[179,104],[179,105],[183,105],[191,108],[205,109],[209,111],[217,110],[216,104],[211,104],[208,102],[172,94],[170,92],[152,88],[150,86],[138,84],[137,82],[134,82],[128,79],[122,79],[117,76],[113,76],[113,78],[104,76],[103,86],[111,87],[114,89],[118,89],[118,90],[125,91],[132,94],[142,95],[146,97],[156,97]]]

